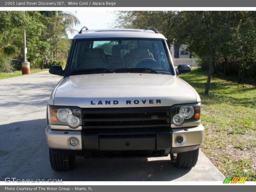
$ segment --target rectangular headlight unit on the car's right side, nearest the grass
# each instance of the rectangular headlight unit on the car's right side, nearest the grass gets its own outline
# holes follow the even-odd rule
[[[200,120],[201,103],[174,105],[171,108],[172,123],[180,126],[183,123]],[[182,116],[182,118],[180,117]]]

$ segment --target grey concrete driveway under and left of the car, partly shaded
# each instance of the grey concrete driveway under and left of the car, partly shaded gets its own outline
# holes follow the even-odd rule
[[[170,157],[84,159],[70,172],[54,172],[45,141],[45,110],[60,80],[48,72],[0,80],[0,180],[63,181],[223,181],[222,173],[200,151],[192,169],[175,168]]]

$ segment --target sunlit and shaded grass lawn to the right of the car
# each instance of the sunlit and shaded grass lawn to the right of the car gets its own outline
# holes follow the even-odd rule
[[[256,181],[256,80],[237,84],[235,76],[213,74],[206,96],[207,71],[194,68],[179,77],[201,97],[204,154],[226,176]]]

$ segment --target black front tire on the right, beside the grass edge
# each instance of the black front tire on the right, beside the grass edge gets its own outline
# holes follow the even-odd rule
[[[196,165],[199,148],[193,151],[170,154],[172,164],[179,168],[192,168]]]

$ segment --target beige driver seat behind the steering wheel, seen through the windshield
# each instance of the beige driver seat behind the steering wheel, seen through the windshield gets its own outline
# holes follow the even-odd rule
[[[137,63],[142,60],[150,58],[149,50],[148,49],[139,49],[139,48],[134,48],[130,49],[130,63],[129,67],[130,68],[135,68]]]

